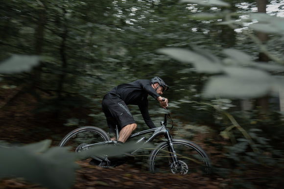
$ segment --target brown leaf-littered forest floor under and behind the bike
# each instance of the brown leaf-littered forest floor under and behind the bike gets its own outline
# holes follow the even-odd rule
[[[14,95],[0,93],[0,140],[12,144],[29,144],[51,139],[52,145],[58,145],[60,139],[66,134],[67,129],[63,121],[55,121],[50,115],[35,115],[32,113],[37,101],[28,94]],[[76,116],[78,116],[78,111]],[[81,111],[82,116],[87,112]],[[80,115],[79,115],[80,116]],[[46,130],[45,130],[46,129]],[[199,133],[195,139],[204,147],[209,155],[213,156],[213,164],[220,164],[223,158],[222,152],[216,148],[207,147],[200,143],[205,134]],[[222,145],[222,144],[221,144]],[[216,155],[217,154],[217,155]],[[78,162],[80,169],[76,172],[76,181],[73,189],[230,189],[237,178],[230,176],[221,177],[217,174],[201,175],[198,173],[189,175],[173,175],[164,173],[150,173],[143,166],[137,166],[134,161],[125,163],[116,168],[100,168],[89,165],[86,162]],[[218,165],[220,166],[220,165]],[[257,172],[257,174],[256,174]],[[251,173],[251,174],[250,174]],[[258,169],[252,169],[247,173],[248,179],[253,181],[256,189],[266,189],[268,182],[266,173]],[[276,171],[277,173],[277,171]],[[236,174],[237,175],[237,174]],[[280,185],[270,185],[268,188],[278,188]],[[280,187],[279,187],[280,188]],[[43,189],[24,181],[21,178],[0,180],[0,189]]]

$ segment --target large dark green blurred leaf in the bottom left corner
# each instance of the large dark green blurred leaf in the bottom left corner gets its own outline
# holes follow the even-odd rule
[[[78,168],[75,154],[67,147],[47,149],[48,144],[49,140],[24,147],[0,147],[0,179],[23,177],[49,189],[71,188]]]

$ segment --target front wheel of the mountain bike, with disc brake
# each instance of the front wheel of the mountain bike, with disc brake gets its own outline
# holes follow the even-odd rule
[[[151,172],[172,172],[173,174],[189,174],[192,172],[209,173],[211,162],[206,152],[191,141],[173,139],[173,147],[178,157],[179,166],[175,166],[170,158],[168,142],[162,142],[153,149],[148,158]]]

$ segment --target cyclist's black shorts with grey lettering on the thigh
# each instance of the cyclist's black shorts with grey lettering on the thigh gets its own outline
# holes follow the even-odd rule
[[[108,93],[104,96],[102,110],[107,118],[110,133],[115,132],[116,126],[120,131],[122,127],[136,123],[125,102],[114,94]]]

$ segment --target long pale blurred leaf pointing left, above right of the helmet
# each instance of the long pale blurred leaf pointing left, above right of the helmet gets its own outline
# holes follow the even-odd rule
[[[193,63],[197,72],[200,73],[220,73],[222,66],[210,54],[208,56],[201,55],[197,52],[182,48],[161,48],[159,53],[166,54],[171,58],[182,63]]]

